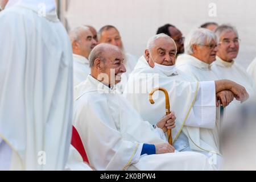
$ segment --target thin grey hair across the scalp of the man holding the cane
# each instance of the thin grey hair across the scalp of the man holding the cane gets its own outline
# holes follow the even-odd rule
[[[105,63],[105,61],[106,61],[105,53],[110,52],[110,50],[113,50],[113,49],[115,49],[117,51],[121,51],[121,49],[119,49],[117,46],[113,46],[112,44],[107,44],[107,43],[98,44],[90,52],[89,67],[90,68],[94,67],[94,61],[96,59],[100,59],[101,61],[103,61]]]

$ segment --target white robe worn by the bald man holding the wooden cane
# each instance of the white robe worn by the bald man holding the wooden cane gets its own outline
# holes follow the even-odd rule
[[[154,129],[143,121],[125,98],[92,76],[88,76],[79,87],[81,92],[76,95],[74,126],[93,168],[152,171],[214,169],[205,155],[196,152],[140,156],[142,143],[165,142],[165,135],[156,131],[161,129]]]

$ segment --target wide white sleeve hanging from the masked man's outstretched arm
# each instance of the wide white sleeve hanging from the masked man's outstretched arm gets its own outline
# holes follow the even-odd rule
[[[192,107],[186,126],[214,129],[216,123],[216,88],[214,81],[199,83],[195,104]]]

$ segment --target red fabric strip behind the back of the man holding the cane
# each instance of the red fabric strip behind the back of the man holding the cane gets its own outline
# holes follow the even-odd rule
[[[76,150],[82,156],[82,160],[89,164],[89,160],[88,160],[88,157],[86,155],[84,145],[82,144],[82,140],[81,140],[80,135],[79,135],[78,131],[76,130],[75,126],[73,126],[73,129],[72,129],[71,144],[72,144],[73,147],[76,148]]]

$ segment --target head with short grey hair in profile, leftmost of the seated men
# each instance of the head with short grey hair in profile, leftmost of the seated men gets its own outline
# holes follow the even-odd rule
[[[73,53],[88,59],[90,51],[96,46],[96,40],[90,29],[85,26],[76,27],[69,32]]]

